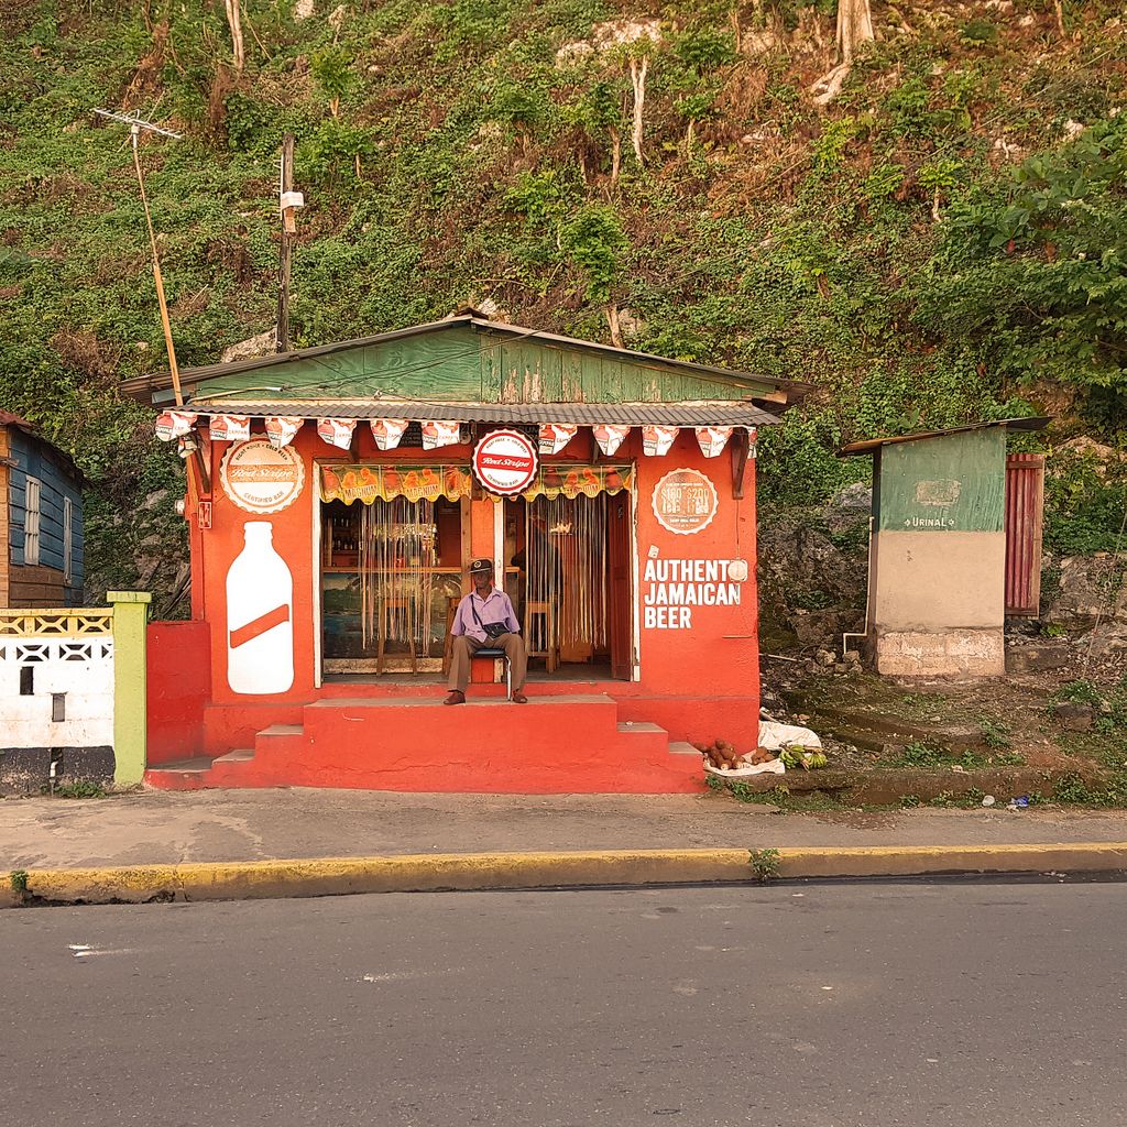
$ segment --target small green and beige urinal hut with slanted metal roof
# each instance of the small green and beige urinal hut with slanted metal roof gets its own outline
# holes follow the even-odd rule
[[[873,458],[866,644],[878,673],[1005,673],[1006,614],[1030,614],[1015,593],[1040,571],[1042,481],[1026,480],[1040,455],[1008,460],[1006,433],[1048,421],[991,420],[838,452]]]

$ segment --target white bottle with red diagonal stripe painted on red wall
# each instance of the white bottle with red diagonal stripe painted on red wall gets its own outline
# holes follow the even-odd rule
[[[293,576],[269,521],[243,525],[227,573],[227,682],[234,693],[284,693],[293,684]]]

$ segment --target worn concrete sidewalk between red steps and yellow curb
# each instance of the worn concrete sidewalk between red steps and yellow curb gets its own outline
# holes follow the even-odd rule
[[[407,854],[1127,842],[1127,811],[777,814],[717,795],[139,791],[0,801],[0,873]]]

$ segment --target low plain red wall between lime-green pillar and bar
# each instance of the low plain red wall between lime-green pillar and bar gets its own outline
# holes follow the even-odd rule
[[[211,627],[150,622],[148,645],[149,765],[199,755],[211,695]]]

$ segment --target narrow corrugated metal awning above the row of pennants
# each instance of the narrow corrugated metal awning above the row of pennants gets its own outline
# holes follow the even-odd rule
[[[436,403],[401,399],[279,400],[199,399],[185,410],[199,415],[273,415],[293,418],[401,418],[412,423],[618,423],[642,426],[772,426],[780,419],[747,401],[708,403]]]

